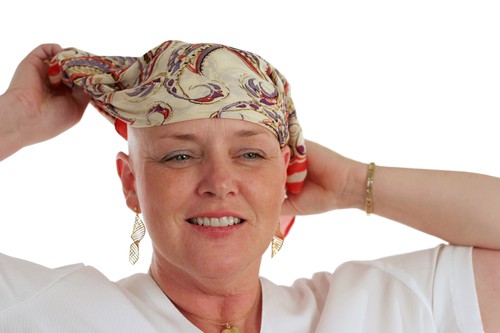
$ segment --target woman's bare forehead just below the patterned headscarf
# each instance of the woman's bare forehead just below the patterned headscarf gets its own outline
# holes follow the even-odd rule
[[[252,138],[278,143],[271,130],[264,126],[235,119],[193,119],[162,126],[134,128],[132,138],[141,141],[157,140],[216,140]]]

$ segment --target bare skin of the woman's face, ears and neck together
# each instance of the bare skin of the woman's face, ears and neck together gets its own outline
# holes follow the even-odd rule
[[[200,317],[258,332],[259,267],[284,199],[288,147],[259,125],[219,119],[131,128],[129,145],[118,171],[153,240],[150,275],[204,332],[220,326]],[[224,216],[244,222],[188,222]]]

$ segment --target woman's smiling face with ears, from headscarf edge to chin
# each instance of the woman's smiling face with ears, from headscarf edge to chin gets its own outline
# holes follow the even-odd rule
[[[258,270],[279,220],[288,148],[262,126],[229,119],[132,129],[129,146],[118,170],[127,204],[146,222],[153,265],[211,278]]]

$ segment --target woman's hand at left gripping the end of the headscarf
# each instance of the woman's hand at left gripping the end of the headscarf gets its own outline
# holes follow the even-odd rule
[[[24,58],[0,96],[0,160],[22,147],[45,141],[75,125],[89,98],[81,89],[54,88],[48,61],[57,44],[42,44]]]

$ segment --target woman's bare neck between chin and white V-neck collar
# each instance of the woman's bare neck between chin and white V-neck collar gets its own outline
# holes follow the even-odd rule
[[[221,332],[223,325],[241,332],[259,332],[261,286],[258,268],[245,274],[195,278],[155,260],[149,274],[177,309],[203,332]]]

